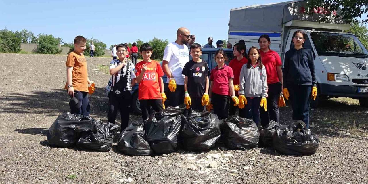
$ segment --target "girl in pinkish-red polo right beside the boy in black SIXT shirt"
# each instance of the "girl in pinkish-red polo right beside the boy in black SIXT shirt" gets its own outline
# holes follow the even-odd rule
[[[211,111],[211,109],[213,109],[214,113],[217,114],[220,119],[229,116],[230,96],[234,102],[234,106],[237,106],[239,103],[239,99],[235,96],[234,91],[233,69],[224,63],[226,59],[227,57],[224,50],[219,49],[216,51],[215,60],[217,67],[211,70],[210,99],[207,106],[207,110]]]

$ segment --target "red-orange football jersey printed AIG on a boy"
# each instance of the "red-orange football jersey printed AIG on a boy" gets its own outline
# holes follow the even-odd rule
[[[143,64],[146,62],[141,61],[135,65],[135,75],[138,77],[141,74]],[[148,70],[145,71],[142,81],[138,86],[138,99],[139,100],[150,100],[150,99],[161,99],[159,77],[162,77],[163,71],[160,64],[152,60],[147,64]]]

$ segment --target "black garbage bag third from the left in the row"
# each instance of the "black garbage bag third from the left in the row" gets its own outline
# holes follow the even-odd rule
[[[144,138],[144,124],[132,122],[120,134],[117,149],[126,155],[151,155],[151,146]]]

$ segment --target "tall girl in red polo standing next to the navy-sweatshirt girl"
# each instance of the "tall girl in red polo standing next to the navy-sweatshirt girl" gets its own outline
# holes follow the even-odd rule
[[[268,84],[268,106],[267,111],[261,108],[261,124],[266,127],[268,123],[272,121],[280,122],[279,119],[279,107],[277,106],[277,100],[282,92],[282,63],[279,54],[270,49],[270,37],[268,35],[261,35],[258,39],[259,52],[262,57],[262,64],[266,68],[267,84]]]

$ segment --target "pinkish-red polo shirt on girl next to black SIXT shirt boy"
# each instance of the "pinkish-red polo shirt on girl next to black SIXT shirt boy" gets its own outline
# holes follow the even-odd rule
[[[226,64],[218,68],[217,66],[211,70],[210,80],[213,81],[211,85],[212,92],[218,95],[230,96],[229,79],[234,78],[233,69]]]

